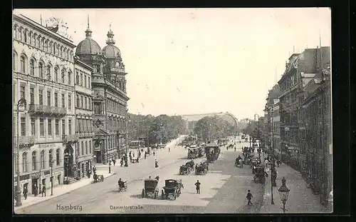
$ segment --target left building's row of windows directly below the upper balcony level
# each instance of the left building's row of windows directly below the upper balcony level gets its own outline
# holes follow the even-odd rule
[[[68,119],[68,133],[66,133],[66,119],[62,118],[30,118],[30,127],[27,126],[26,117],[20,118],[20,136],[36,136],[38,135],[37,132],[39,131],[39,136],[60,136],[60,132],[62,135],[72,135],[73,128],[72,125],[73,121],[71,118]],[[38,128],[39,125],[39,128]],[[14,124],[14,129],[16,124]],[[28,131],[29,130],[29,131]],[[14,135],[16,135],[14,133]]]

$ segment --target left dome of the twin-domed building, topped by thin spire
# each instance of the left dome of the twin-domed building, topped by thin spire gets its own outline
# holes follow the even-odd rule
[[[105,59],[99,44],[92,39],[92,33],[93,31],[89,28],[88,16],[88,29],[85,31],[85,39],[80,41],[77,49],[75,49],[75,56],[78,56],[86,64],[93,66],[93,74],[103,74]]]

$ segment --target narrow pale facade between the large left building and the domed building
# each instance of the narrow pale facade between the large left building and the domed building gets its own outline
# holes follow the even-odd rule
[[[91,73],[93,68],[75,58],[75,163],[78,178],[88,175],[93,166],[93,107]]]

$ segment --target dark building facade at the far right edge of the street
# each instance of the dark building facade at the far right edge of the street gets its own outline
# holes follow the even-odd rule
[[[318,49],[323,61],[315,76],[306,84],[301,106],[303,131],[300,146],[305,148],[306,176],[315,193],[320,194],[320,203],[328,203],[333,191],[333,135],[331,116],[330,47]]]

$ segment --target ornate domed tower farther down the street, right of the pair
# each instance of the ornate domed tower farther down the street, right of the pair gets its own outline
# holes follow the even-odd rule
[[[104,74],[120,91],[126,94],[125,64],[122,62],[120,49],[115,46],[114,33],[111,28],[107,36],[106,44],[108,45],[103,48],[106,61]]]

